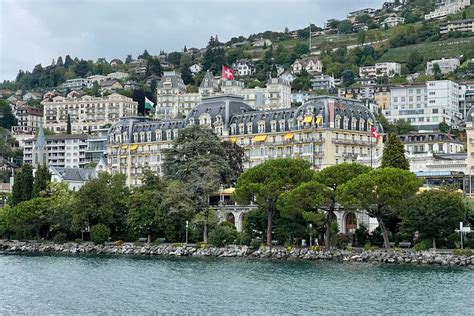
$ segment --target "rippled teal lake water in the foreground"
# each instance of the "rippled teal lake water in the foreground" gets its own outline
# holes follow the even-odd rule
[[[0,254],[0,314],[474,315],[474,269]]]

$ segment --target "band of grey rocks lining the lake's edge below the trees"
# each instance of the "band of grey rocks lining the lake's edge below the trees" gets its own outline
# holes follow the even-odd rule
[[[115,242],[105,245],[93,243],[37,243],[19,241],[0,241],[3,253],[62,253],[62,254],[105,254],[131,256],[163,257],[241,257],[268,259],[301,259],[348,262],[380,262],[392,264],[431,264],[441,266],[474,267],[474,252],[471,250],[416,252],[407,249],[369,249],[322,250],[319,247],[292,248],[266,247],[252,249],[248,246],[230,245],[213,247],[207,245],[191,246],[184,244],[139,244]]]

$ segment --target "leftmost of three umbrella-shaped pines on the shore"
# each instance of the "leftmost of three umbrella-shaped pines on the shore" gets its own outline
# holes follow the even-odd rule
[[[310,164],[302,159],[273,159],[246,170],[237,180],[235,198],[245,204],[255,201],[267,213],[267,245],[272,245],[273,216],[283,192],[311,180]]]

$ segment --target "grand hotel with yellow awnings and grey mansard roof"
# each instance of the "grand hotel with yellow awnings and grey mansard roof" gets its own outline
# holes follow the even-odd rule
[[[162,151],[172,146],[180,130],[201,125],[242,146],[246,168],[291,157],[321,169],[355,162],[358,156],[377,156],[382,142],[370,136],[372,124],[380,128],[357,100],[321,96],[299,107],[255,111],[242,97],[210,96],[185,119],[122,118],[109,130],[107,165],[109,172],[125,174],[128,185],[140,185],[144,170],[162,172]]]

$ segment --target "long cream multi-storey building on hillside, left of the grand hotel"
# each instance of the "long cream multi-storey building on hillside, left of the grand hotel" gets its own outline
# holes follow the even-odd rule
[[[131,98],[113,93],[106,97],[62,97],[41,102],[44,107],[43,127],[54,132],[65,132],[68,116],[72,133],[86,133],[103,128],[121,117],[137,114],[138,103]]]

